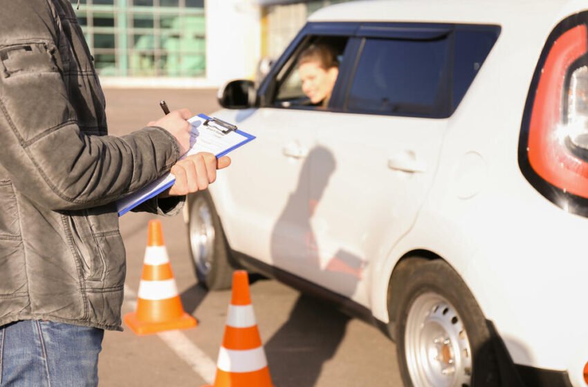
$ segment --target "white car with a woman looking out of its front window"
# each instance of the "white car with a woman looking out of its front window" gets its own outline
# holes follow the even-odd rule
[[[588,386],[588,3],[315,12],[214,113],[257,136],[190,197],[192,256],[369,314],[406,386]],[[297,57],[338,51],[327,108]]]

